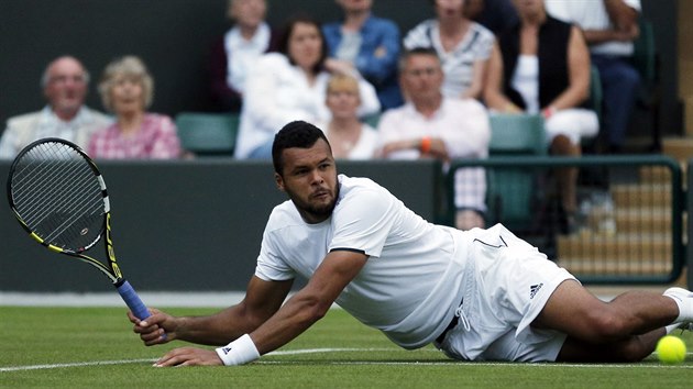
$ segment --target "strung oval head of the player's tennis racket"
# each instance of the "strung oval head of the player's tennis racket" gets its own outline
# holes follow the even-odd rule
[[[103,229],[105,194],[85,157],[63,143],[44,143],[28,152],[12,177],[15,209],[45,242],[80,252]]]

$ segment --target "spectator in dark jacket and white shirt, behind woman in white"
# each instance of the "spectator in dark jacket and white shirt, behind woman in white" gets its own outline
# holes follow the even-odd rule
[[[209,74],[211,98],[219,110],[239,112],[245,78],[257,58],[276,47],[276,34],[265,22],[265,0],[229,0],[233,26],[212,46]]]

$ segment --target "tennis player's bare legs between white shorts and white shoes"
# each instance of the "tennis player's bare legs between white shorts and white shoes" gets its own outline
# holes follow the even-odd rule
[[[568,334],[558,360],[640,360],[678,316],[671,298],[630,291],[604,302],[569,280],[556,289],[532,326]]]

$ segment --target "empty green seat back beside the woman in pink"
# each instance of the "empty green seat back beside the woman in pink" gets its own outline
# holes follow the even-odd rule
[[[180,112],[176,115],[184,149],[196,156],[232,156],[239,115],[231,113]]]

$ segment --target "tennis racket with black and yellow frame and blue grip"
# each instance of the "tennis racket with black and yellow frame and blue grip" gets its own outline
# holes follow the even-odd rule
[[[140,320],[150,316],[116,263],[103,178],[77,145],[44,138],[22,149],[10,168],[8,199],[16,220],[34,240],[101,270],[135,316]],[[106,235],[108,265],[84,254],[102,235]]]

